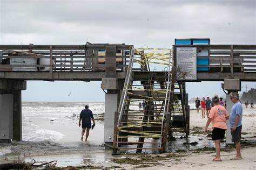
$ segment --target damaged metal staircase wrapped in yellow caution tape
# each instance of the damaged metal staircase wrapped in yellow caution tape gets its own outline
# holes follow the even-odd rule
[[[116,137],[113,154],[118,151],[136,150],[165,152],[169,125],[170,108],[173,99],[171,79],[171,55],[168,72],[133,72],[134,49],[118,108]],[[139,108],[139,102],[142,108]]]

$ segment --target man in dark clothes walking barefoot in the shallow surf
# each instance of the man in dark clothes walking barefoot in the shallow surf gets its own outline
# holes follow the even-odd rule
[[[93,125],[91,124],[91,119],[92,119]],[[89,137],[90,129],[91,128],[93,129],[94,126],[95,126],[95,119],[94,119],[94,117],[92,115],[92,111],[89,109],[89,105],[88,104],[85,105],[85,109],[82,110],[81,113],[80,113],[80,118],[79,118],[79,123],[78,123],[79,127],[81,125],[81,121],[82,121],[82,137],[81,137],[81,141],[83,141],[85,129],[86,129],[85,141],[87,141],[87,138]]]

